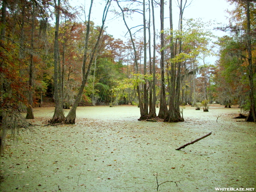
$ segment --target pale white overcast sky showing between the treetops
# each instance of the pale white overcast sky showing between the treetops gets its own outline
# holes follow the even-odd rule
[[[70,0],[73,6],[81,6],[85,5],[86,14],[89,12],[90,0]],[[180,0],[179,0],[180,1]],[[184,2],[184,1],[183,1]],[[188,0],[190,3],[191,0]],[[91,20],[96,25],[101,25],[102,20],[102,12],[105,6],[104,0],[94,0],[92,7],[92,15]],[[179,22],[179,8],[177,6],[177,0],[172,0],[172,11],[173,11],[173,24],[174,28],[178,26]],[[115,1],[112,1],[111,9],[116,9],[116,11],[120,12],[119,8],[116,5]],[[225,24],[228,24],[229,14],[226,10],[232,10],[233,6],[231,6],[226,0],[192,0],[191,4],[185,8],[183,17],[186,19],[193,18],[198,19],[201,18],[203,22],[212,21],[212,26],[210,29],[214,27],[220,27]],[[169,1],[166,1],[166,5],[164,7],[164,15],[165,15],[165,27],[169,28]],[[160,32],[160,9],[155,9],[155,17],[156,17],[156,29],[157,32]],[[137,25],[143,24],[142,16],[140,14],[134,15],[133,18],[127,18],[129,27],[134,27]],[[152,18],[151,18],[152,21]],[[220,24],[222,23],[222,24]],[[125,33],[127,33],[127,29],[124,25],[124,21],[121,17],[115,17],[114,13],[109,12],[107,21],[105,26],[107,27],[106,32],[112,35],[114,38],[121,38],[124,42],[127,41],[124,37]],[[153,28],[151,29],[153,31]],[[228,35],[224,32],[213,30],[214,34],[217,36]],[[153,32],[152,32],[153,33]],[[142,34],[141,34],[142,35]],[[139,36],[136,35],[136,36]],[[126,36],[129,38],[129,36]],[[210,59],[213,64],[215,59]]]

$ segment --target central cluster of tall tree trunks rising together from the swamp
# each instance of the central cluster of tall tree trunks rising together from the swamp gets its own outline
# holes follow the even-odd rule
[[[133,36],[131,29],[128,27],[126,20],[125,20],[125,14],[123,8],[120,6],[119,2],[117,2],[117,5],[119,6],[122,15],[123,15],[123,20],[125,23],[125,26],[130,34],[132,46],[133,46],[133,51],[134,51],[134,62],[136,66],[136,73],[139,73],[138,70],[138,63],[137,63],[137,50],[134,44]],[[184,6],[182,5],[182,0],[180,0],[180,22],[179,22],[179,29],[180,29],[180,36],[182,35],[182,20],[183,20],[183,12],[186,7],[186,3]],[[153,30],[154,30],[154,52],[153,52],[153,82],[149,83],[150,90],[151,86],[153,87],[153,100],[152,100],[152,92],[150,92],[150,97],[149,97],[149,114],[148,114],[148,92],[147,92],[147,84],[146,80],[143,84],[143,99],[141,99],[141,92],[139,85],[136,85],[137,89],[137,94],[138,94],[138,100],[139,100],[139,107],[140,107],[140,118],[139,120],[143,119],[149,119],[149,118],[154,118],[156,116],[156,92],[155,92],[155,21],[154,21],[154,3],[151,1],[152,4],[152,13],[153,13]],[[170,0],[170,6],[169,6],[169,11],[170,11],[170,28],[171,28],[171,43],[170,43],[170,50],[171,50],[171,58],[175,57],[175,52],[174,52],[174,46],[176,50],[179,50],[178,53],[182,52],[182,40],[181,38],[179,39],[178,43],[174,45],[173,43],[173,24],[172,24],[172,0]],[[160,109],[158,113],[158,117],[164,119],[165,122],[179,122],[179,121],[184,121],[184,119],[180,115],[180,76],[181,76],[181,62],[178,63],[171,63],[171,69],[168,69],[168,74],[171,77],[170,82],[170,92],[169,92],[169,109],[167,108],[167,102],[166,102],[166,88],[165,88],[165,59],[164,59],[164,0],[160,1],[160,23],[161,23],[161,34],[160,34],[160,39],[161,39],[161,59],[160,59],[160,69],[161,69],[161,86],[160,86]],[[143,1],[143,31],[144,31],[144,75],[146,75],[146,22],[145,22],[145,1]],[[150,40],[150,38],[149,38]],[[149,52],[149,54],[151,54]],[[151,70],[150,70],[151,73]],[[169,81],[169,79],[168,79]]]

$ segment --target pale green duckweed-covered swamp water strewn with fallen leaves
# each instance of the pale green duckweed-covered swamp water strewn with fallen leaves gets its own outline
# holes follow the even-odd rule
[[[47,124],[53,112],[35,108],[31,123]],[[256,190],[256,124],[232,119],[238,113],[186,106],[185,122],[162,123],[138,121],[137,106],[78,107],[74,125],[37,125],[20,132],[18,145],[8,139],[0,191],[152,192],[156,174],[158,185],[177,184],[163,183],[159,192]]]

